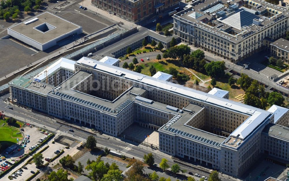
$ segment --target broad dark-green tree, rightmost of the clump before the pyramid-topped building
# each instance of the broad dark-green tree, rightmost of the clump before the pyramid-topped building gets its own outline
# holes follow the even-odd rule
[[[225,62],[224,61],[212,61],[205,65],[205,70],[212,78],[225,76]]]

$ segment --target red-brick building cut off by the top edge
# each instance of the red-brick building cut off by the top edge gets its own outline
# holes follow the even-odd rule
[[[91,3],[123,19],[137,23],[179,4],[179,0],[91,0]]]

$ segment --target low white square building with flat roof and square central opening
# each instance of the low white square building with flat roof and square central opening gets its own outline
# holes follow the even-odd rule
[[[82,33],[81,26],[50,12],[39,14],[7,30],[13,38],[41,51]]]

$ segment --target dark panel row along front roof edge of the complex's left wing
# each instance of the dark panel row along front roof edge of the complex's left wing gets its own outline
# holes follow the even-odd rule
[[[118,108],[116,108],[116,111],[115,111],[112,108],[109,108],[109,107],[106,107],[106,106],[103,106],[103,105],[100,105],[100,104],[97,104],[97,103],[93,103],[93,102],[90,102],[90,101],[87,101],[87,100],[83,100],[83,99],[80,99],[80,98],[77,98],[77,97],[74,97],[74,96],[71,96],[71,95],[67,95],[67,94],[64,94],[64,93],[61,93],[61,92],[58,92],[58,91],[57,92],[53,91],[52,94],[60,96],[60,97],[63,97],[63,98],[66,98],[66,99],[70,99],[70,100],[72,100],[74,102],[77,102],[77,103],[83,103],[83,104],[91,106],[93,108],[101,109],[103,111],[108,111],[108,112],[111,112],[111,113],[120,112],[123,108],[125,108],[127,105],[129,105],[129,103],[132,102],[131,100],[128,99],[127,101],[122,103]]]

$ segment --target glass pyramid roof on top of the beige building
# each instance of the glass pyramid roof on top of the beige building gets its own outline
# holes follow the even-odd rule
[[[226,23],[227,25],[230,25],[234,28],[237,28],[238,30],[241,30],[243,26],[249,26],[253,24],[253,19],[259,19],[257,15],[241,10],[240,12],[237,12],[233,14],[232,16],[229,16],[223,20],[221,20],[223,23]]]

